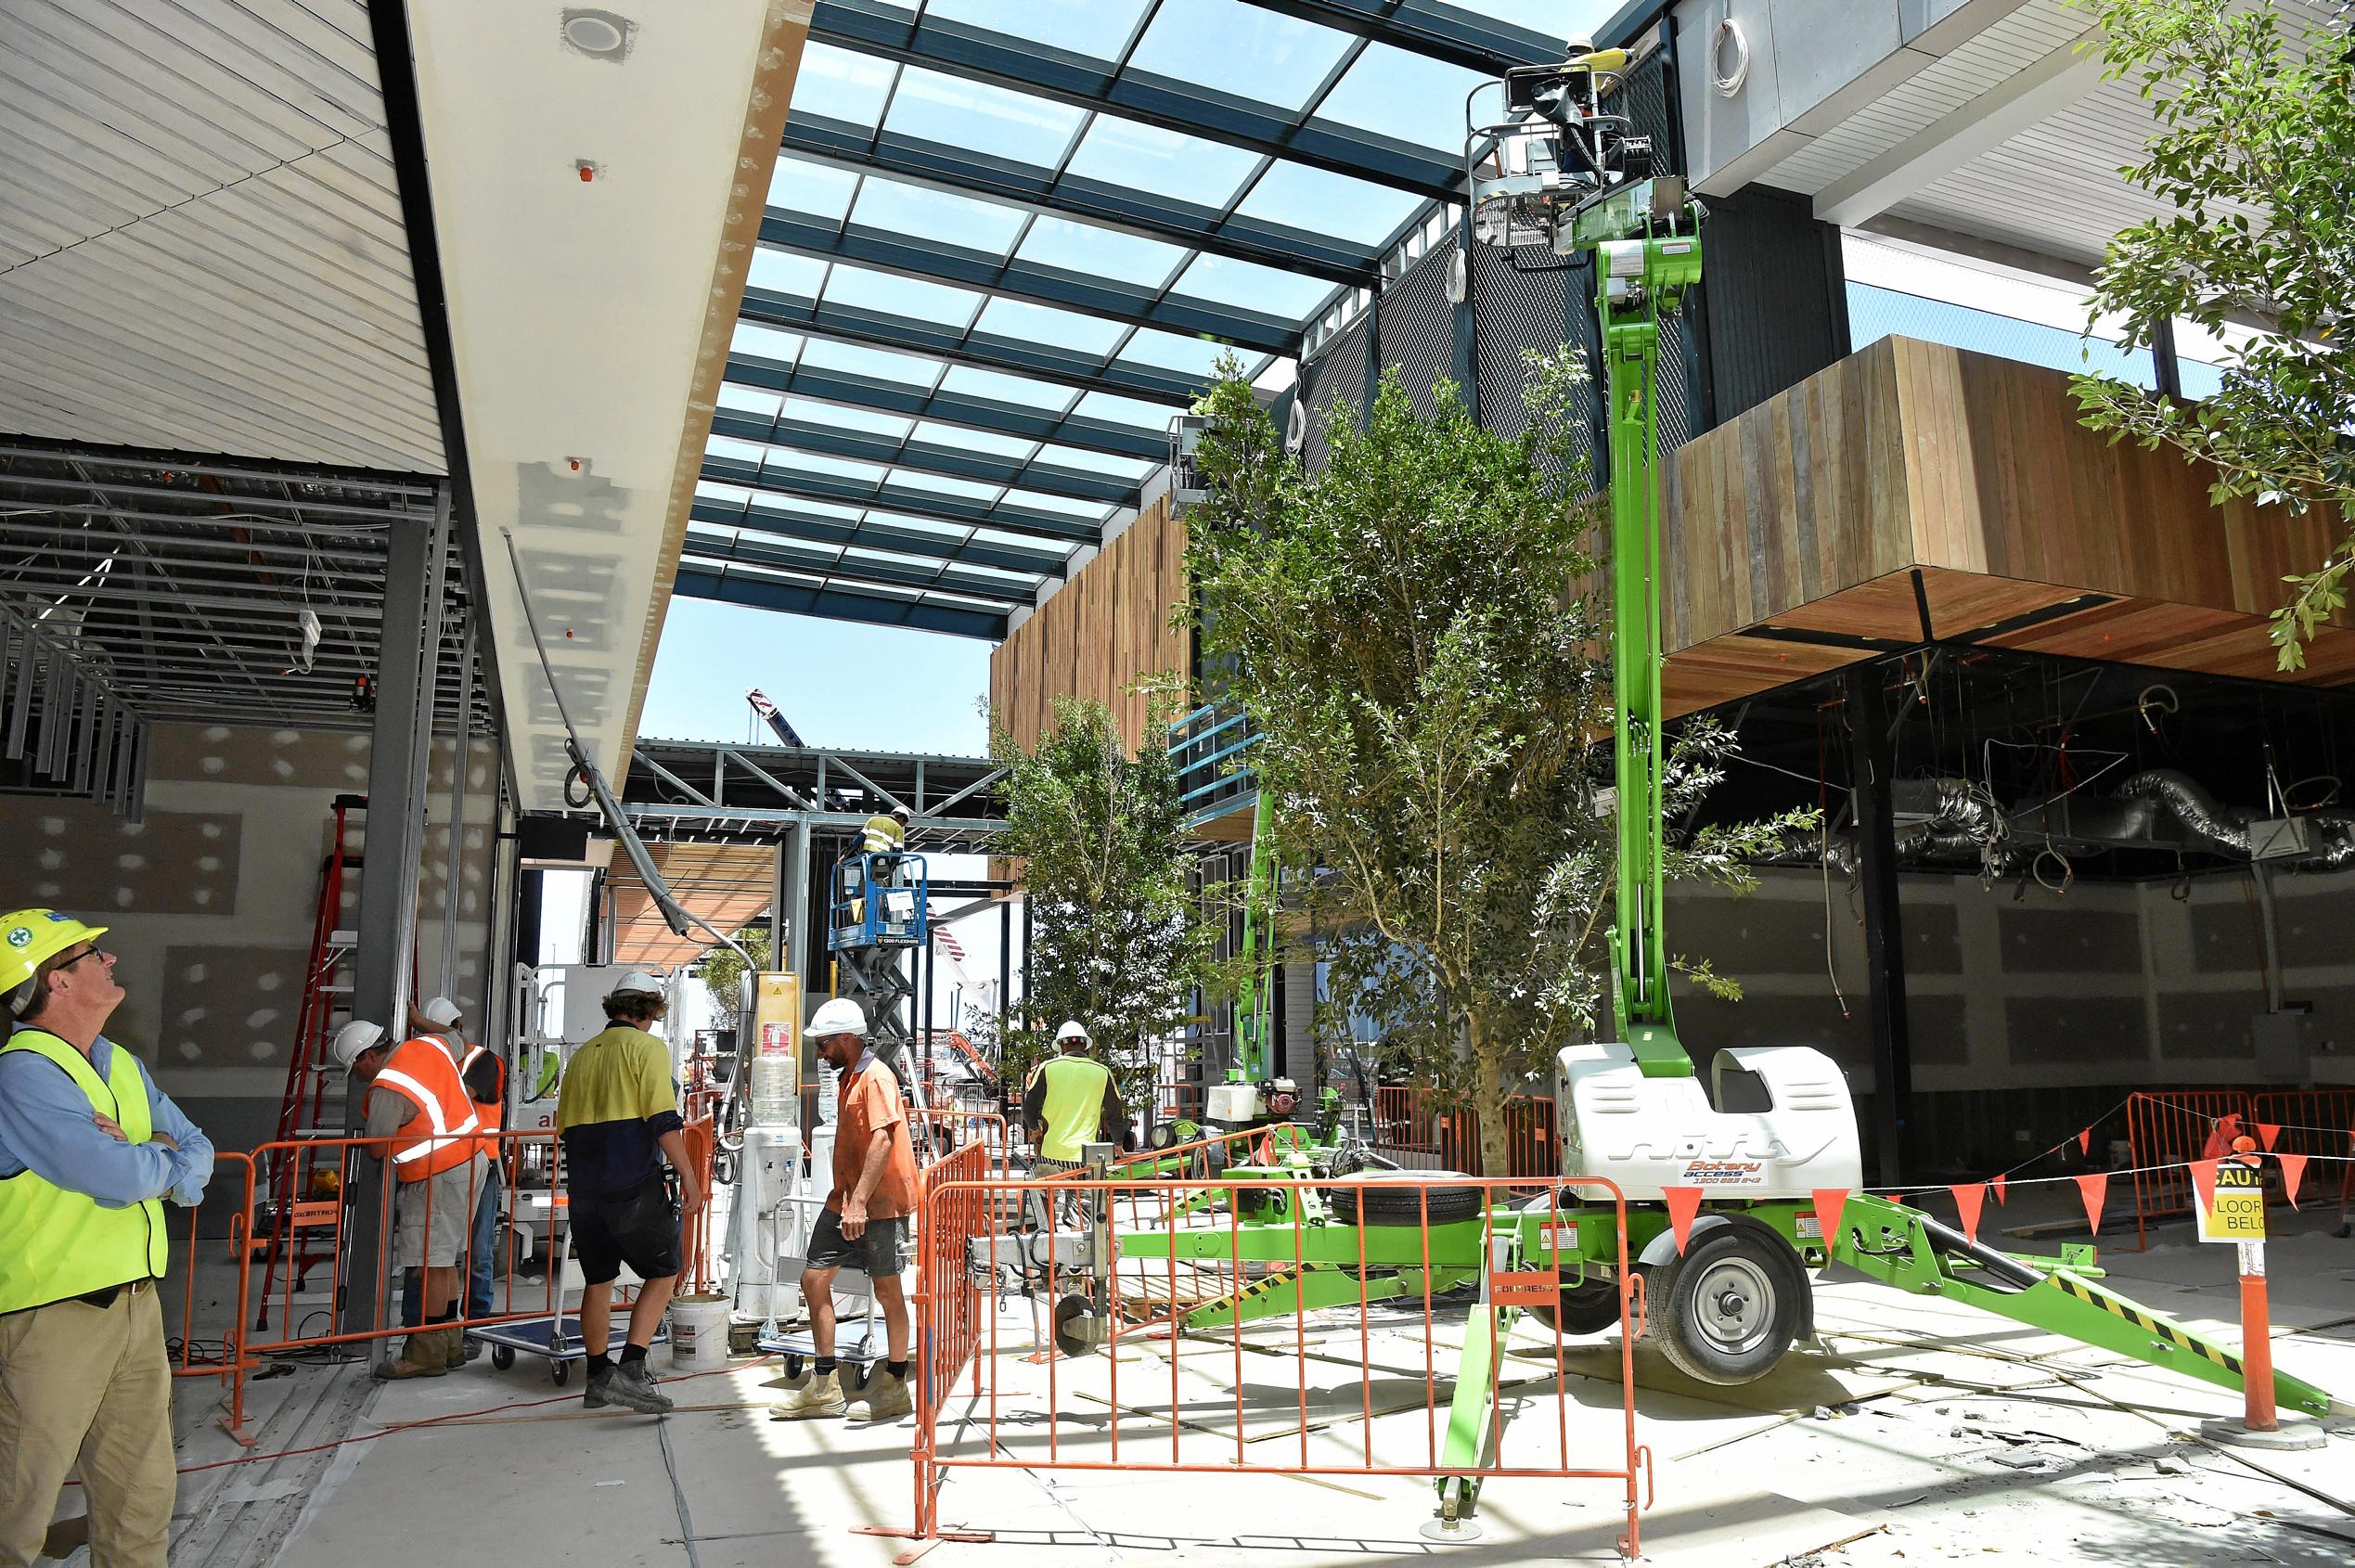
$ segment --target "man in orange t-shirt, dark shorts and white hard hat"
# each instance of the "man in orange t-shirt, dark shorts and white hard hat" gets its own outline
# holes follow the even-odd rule
[[[862,1269],[883,1309],[890,1358],[867,1380],[867,1417],[895,1420],[916,1408],[909,1398],[909,1321],[900,1271],[916,1224],[916,1151],[907,1140],[900,1078],[867,1050],[867,1015],[848,996],[836,996],[810,1019],[810,1038],[827,1067],[841,1074],[834,1090],[834,1194],[810,1227],[810,1257],[801,1271],[801,1300],[810,1304],[810,1340],[817,1351],[810,1382],[770,1408],[775,1420],[841,1415],[843,1384],[834,1361],[834,1276],[845,1264]]]

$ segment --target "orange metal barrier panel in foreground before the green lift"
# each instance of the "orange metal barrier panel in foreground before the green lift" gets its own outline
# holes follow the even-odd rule
[[[1154,1158],[1170,1154],[1156,1151]],[[1557,1177],[1543,1182],[1535,1198],[1547,1210],[1545,1236],[1559,1236],[1559,1227],[1575,1224],[1571,1210],[1583,1210],[1587,1227],[1608,1227],[1599,1238],[1608,1238],[1604,1250],[1616,1262],[1616,1278],[1627,1281],[1620,1288],[1620,1401],[1608,1439],[1594,1431],[1573,1439],[1573,1413],[1585,1427],[1592,1408],[1573,1396],[1571,1380],[1583,1375],[1571,1373],[1561,1340],[1547,1333],[1550,1366],[1533,1347],[1512,1358],[1510,1366],[1524,1375],[1512,1382],[1510,1401],[1505,1347],[1495,1347],[1495,1377],[1488,1387],[1488,1424],[1495,1436],[1474,1460],[1460,1453],[1448,1460],[1444,1453],[1451,1429],[1446,1384],[1458,1366],[1458,1347],[1439,1340],[1434,1328],[1465,1307],[1441,1304],[1439,1297],[1455,1281],[1477,1278],[1481,1302],[1470,1311],[1479,1314],[1495,1311],[1507,1300],[1514,1304],[1554,1300],[1566,1283],[1552,1253],[1502,1264],[1507,1248],[1498,1245],[1495,1205],[1505,1201],[1519,1210],[1531,1205],[1517,1182],[1460,1177],[1401,1182],[1389,1191],[1420,1194],[1418,1217],[1399,1224],[1368,1217],[1366,1224],[1331,1229],[1265,1227],[1255,1238],[1265,1241],[1288,1229],[1291,1257],[1258,1260],[1243,1255],[1241,1231],[1234,1224],[1243,1196],[1276,1205],[1262,1212],[1298,1212],[1326,1182],[1222,1182],[1210,1175],[1031,1182],[975,1180],[942,1168],[940,1180],[926,1187],[918,1234],[928,1241],[916,1316],[926,1380],[918,1389],[911,1448],[916,1516],[907,1528],[860,1528],[864,1535],[914,1540],[895,1561],[909,1563],[940,1540],[989,1540],[982,1530],[942,1526],[942,1486],[958,1469],[1597,1479],[1625,1488],[1620,1549],[1630,1559],[1639,1552],[1637,1514],[1648,1507],[1651,1490],[1651,1455],[1637,1443],[1634,1431],[1632,1347],[1641,1333],[1641,1283],[1627,1267],[1627,1201],[1611,1182]],[[1472,1215],[1462,1212],[1467,1201],[1458,1196],[1467,1187],[1479,1189],[1477,1250],[1467,1234]],[[1104,1342],[1097,1347],[1102,1356],[1041,1354],[1036,1316],[1020,1323],[999,1311],[1008,1271],[1020,1271],[1024,1281],[1034,1269],[1046,1276],[1046,1260],[1055,1257],[1057,1236],[1074,1236],[1072,1227],[1057,1231],[1060,1222],[1053,1217],[1055,1198],[1062,1194],[1086,1194],[1090,1203],[1128,1215],[1121,1229],[1130,1234],[1133,1245],[1109,1271],[1112,1314]],[[1434,1203],[1446,1217],[1432,1217]],[[1048,1227],[1022,1238],[991,1241],[991,1267],[977,1269],[968,1241],[987,1234],[982,1217],[1024,1208],[1048,1212]],[[1220,1208],[1225,1212],[1218,1212]],[[1102,1231],[1104,1224],[1090,1229]],[[1437,1274],[1434,1229],[1444,1234]],[[1305,1304],[1293,1288],[1312,1276],[1307,1267],[1312,1231],[1324,1231],[1321,1253],[1331,1253],[1331,1236],[1347,1236],[1356,1248],[1354,1260],[1314,1260],[1326,1281],[1340,1278],[1352,1285],[1338,1295],[1331,1288],[1319,1290],[1319,1304]],[[1159,1255],[1149,1255],[1152,1243],[1161,1245]],[[1022,1262],[1010,1262],[1017,1250]],[[1276,1250],[1281,1253],[1281,1243]],[[1069,1264],[1055,1267],[1053,1274],[1062,1278],[1050,1281],[1050,1297],[1069,1300],[1069,1290],[1083,1288],[1086,1274]],[[1575,1283],[1575,1276],[1568,1283]],[[1291,1290],[1291,1309],[1260,1316],[1246,1333],[1241,1302],[1260,1300],[1269,1290]],[[1375,1302],[1382,1302],[1380,1326],[1368,1311]],[[1232,1326],[1182,1328],[1182,1318],[1203,1304],[1225,1307],[1225,1316],[1234,1318]],[[1060,1330],[1062,1314],[1055,1318]],[[1309,1354],[1312,1335],[1316,1354]],[[1225,1347],[1227,1354],[1185,1356],[1180,1366],[1180,1337],[1189,1344]],[[1413,1349],[1415,1340],[1420,1349]],[[1248,1373],[1246,1354],[1253,1358]],[[1152,1358],[1166,1361],[1166,1380],[1156,1366],[1123,1375],[1123,1366],[1135,1368]],[[1298,1387],[1269,1401],[1269,1389],[1279,1387],[1272,1382],[1281,1377],[1279,1363],[1295,1368]],[[1543,1370],[1528,1375],[1533,1366]],[[1401,1401],[1399,1389],[1420,1394]],[[1550,1415],[1547,1398],[1552,1398]],[[1507,1403],[1519,1410],[1512,1422],[1505,1420]]]

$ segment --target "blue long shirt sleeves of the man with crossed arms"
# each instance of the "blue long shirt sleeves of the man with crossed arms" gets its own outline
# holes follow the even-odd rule
[[[106,1081],[115,1043],[104,1034],[89,1067]],[[125,1144],[92,1118],[89,1095],[66,1071],[31,1050],[0,1055],[0,1180],[31,1170],[52,1187],[130,1208],[170,1196],[195,1208],[212,1180],[212,1140],[148,1078],[148,1116],[170,1144]]]

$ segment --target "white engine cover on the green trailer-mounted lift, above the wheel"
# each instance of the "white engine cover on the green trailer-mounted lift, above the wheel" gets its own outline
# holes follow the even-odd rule
[[[1764,1088],[1769,1104],[1759,1111],[1719,1111],[1698,1076],[1646,1078],[1627,1045],[1571,1045],[1554,1071],[1561,1170],[1608,1177],[1630,1201],[1656,1201],[1663,1187],[1806,1198],[1818,1187],[1863,1184],[1849,1081],[1811,1045],[1717,1052],[1717,1104],[1729,1090],[1754,1097]]]

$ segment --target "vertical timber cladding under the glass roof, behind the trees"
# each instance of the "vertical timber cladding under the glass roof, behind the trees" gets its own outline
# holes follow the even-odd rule
[[[1170,629],[1185,600],[1185,523],[1159,499],[1083,565],[1062,591],[989,657],[989,723],[1036,746],[1055,697],[1112,709],[1130,746],[1145,742],[1140,676],[1187,673],[1187,633]]]

